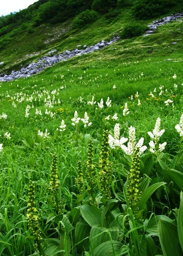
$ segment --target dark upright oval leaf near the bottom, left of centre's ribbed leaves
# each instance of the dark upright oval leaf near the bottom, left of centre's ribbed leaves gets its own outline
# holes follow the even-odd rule
[[[79,253],[89,250],[89,233],[91,227],[84,221],[79,221],[75,228],[76,247]]]

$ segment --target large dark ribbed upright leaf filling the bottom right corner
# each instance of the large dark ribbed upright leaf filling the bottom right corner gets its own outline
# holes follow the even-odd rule
[[[181,256],[182,250],[178,241],[177,227],[167,221],[158,223],[158,235],[164,256]]]

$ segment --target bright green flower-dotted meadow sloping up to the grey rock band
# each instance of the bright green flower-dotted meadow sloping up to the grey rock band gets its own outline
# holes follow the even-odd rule
[[[100,39],[92,31],[77,44],[111,38],[107,28]],[[182,31],[175,21],[0,84],[0,255],[182,254]],[[58,49],[71,50],[67,40]],[[92,124],[72,125],[75,111]],[[109,147],[106,130],[121,147]]]

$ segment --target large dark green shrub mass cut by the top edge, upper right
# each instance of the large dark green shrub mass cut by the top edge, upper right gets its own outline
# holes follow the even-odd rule
[[[134,15],[139,19],[157,17],[177,3],[178,0],[141,0],[134,5]]]

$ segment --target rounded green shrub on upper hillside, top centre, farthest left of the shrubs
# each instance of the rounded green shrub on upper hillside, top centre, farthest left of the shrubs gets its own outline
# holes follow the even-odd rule
[[[85,27],[87,24],[94,22],[97,16],[98,14],[95,11],[86,10],[81,12],[73,19],[73,28]]]

